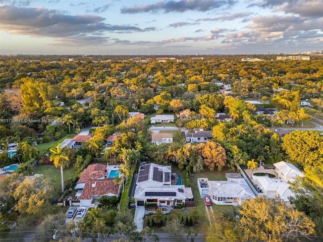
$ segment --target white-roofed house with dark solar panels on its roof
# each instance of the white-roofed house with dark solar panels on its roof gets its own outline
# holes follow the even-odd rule
[[[174,183],[175,178],[177,183]],[[194,200],[190,188],[182,185],[181,177],[172,173],[170,165],[154,163],[139,167],[134,198],[137,206],[150,203],[170,208]]]

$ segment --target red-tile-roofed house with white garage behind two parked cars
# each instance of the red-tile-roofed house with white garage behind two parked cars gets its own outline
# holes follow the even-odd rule
[[[108,178],[106,164],[90,164],[83,170],[74,189],[78,190],[76,199],[80,206],[92,206],[94,200],[101,196],[119,197],[120,185],[115,184],[114,178]]]

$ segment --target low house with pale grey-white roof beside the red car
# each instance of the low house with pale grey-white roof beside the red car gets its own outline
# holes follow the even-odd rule
[[[227,180],[208,180],[197,178],[201,197],[209,196],[211,202],[218,205],[241,205],[255,198],[247,181],[239,173],[226,173]]]

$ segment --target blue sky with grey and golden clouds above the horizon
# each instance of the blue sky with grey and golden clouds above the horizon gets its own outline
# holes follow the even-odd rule
[[[0,0],[0,54],[323,50],[320,0]]]

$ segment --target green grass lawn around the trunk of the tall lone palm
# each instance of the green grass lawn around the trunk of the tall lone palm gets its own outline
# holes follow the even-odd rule
[[[43,174],[51,178],[51,185],[54,188],[52,193],[52,199],[58,198],[62,194],[62,184],[61,184],[61,168],[55,168],[54,165],[36,165],[33,168],[33,172],[35,174]],[[75,174],[74,168],[69,167],[64,169],[64,185],[66,185],[67,181],[73,177]]]

